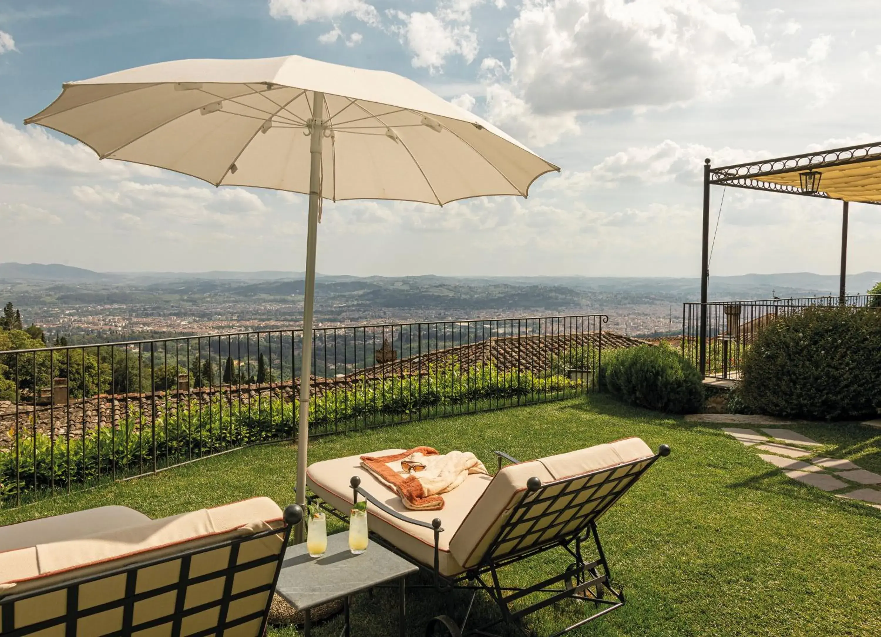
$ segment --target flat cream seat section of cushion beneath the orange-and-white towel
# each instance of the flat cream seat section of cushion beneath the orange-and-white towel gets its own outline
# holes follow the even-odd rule
[[[389,456],[402,451],[406,451],[406,449],[383,449],[369,455]],[[360,456],[362,455],[335,458],[309,465],[306,477],[312,492],[331,507],[347,514],[352,507],[352,487],[349,485],[349,480],[352,476],[358,476],[361,478],[361,486],[366,492],[381,500],[389,508],[422,522],[431,523],[434,518],[441,518],[444,529],[438,544],[441,574],[452,576],[462,573],[465,569],[450,555],[449,541],[481,493],[484,493],[487,485],[492,482],[492,478],[472,474],[465,478],[462,485],[443,494],[446,502],[443,510],[413,511],[404,507],[401,498],[396,493],[389,491],[387,486],[382,485],[379,480],[361,467]],[[370,530],[387,539],[413,559],[418,559],[426,566],[434,566],[433,530],[396,520],[377,507],[367,507],[367,513],[370,516],[367,522]]]

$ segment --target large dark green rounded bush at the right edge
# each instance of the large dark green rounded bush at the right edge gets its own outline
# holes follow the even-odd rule
[[[772,322],[744,358],[740,393],[785,418],[865,418],[881,406],[881,311],[813,307]]]

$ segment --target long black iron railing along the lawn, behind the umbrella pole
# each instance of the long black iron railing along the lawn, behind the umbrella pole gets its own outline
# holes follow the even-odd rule
[[[319,328],[309,434],[575,396],[604,315]],[[300,330],[0,352],[0,504],[298,428]]]

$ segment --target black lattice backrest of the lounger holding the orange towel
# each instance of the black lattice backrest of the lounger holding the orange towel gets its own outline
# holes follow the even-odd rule
[[[542,484],[527,490],[492,541],[486,558],[498,562],[579,536],[624,495],[658,456]]]

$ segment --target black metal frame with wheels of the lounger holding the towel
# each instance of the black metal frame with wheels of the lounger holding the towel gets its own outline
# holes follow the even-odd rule
[[[503,461],[519,462],[504,452],[496,451],[494,453],[499,457],[499,469],[501,469]],[[507,521],[501,525],[483,558],[476,566],[453,577],[443,575],[440,571],[438,544],[440,534],[443,531],[440,518],[435,518],[431,523],[428,523],[398,513],[368,493],[360,485],[361,481],[357,476],[352,477],[351,480],[352,500],[357,502],[360,495],[371,505],[380,508],[397,520],[433,530],[433,567],[428,567],[418,559],[414,559],[374,532],[371,532],[371,537],[374,541],[431,574],[434,589],[446,591],[455,587],[474,591],[468,611],[466,611],[461,624],[456,624],[453,619],[447,616],[440,616],[432,619],[426,628],[426,634],[431,634],[434,626],[440,627],[442,625],[454,637],[463,634],[493,635],[494,633],[486,632],[492,626],[501,622],[520,626],[520,619],[568,598],[592,602],[597,608],[603,606],[602,610],[596,611],[589,617],[582,618],[550,636],[558,637],[625,604],[624,594],[621,590],[612,588],[611,572],[605,552],[603,552],[603,545],[600,543],[599,533],[596,530],[596,519],[609,510],[659,457],[669,455],[670,447],[661,445],[655,456],[618,464],[612,468],[595,470],[544,484],[539,478],[529,478],[527,488],[520,501],[508,516]],[[315,503],[316,501],[317,496],[310,497],[310,502]],[[344,513],[337,512],[328,504],[321,503],[320,506],[331,515],[335,515],[343,521],[347,520]],[[566,515],[570,511],[572,511],[572,515]],[[549,520],[549,522],[543,524],[544,520]],[[542,525],[539,526],[539,524]],[[585,561],[582,554],[582,544],[591,538],[596,547],[596,559]],[[574,559],[574,562],[563,573],[539,581],[527,588],[511,588],[501,585],[498,574],[501,567],[558,547],[565,549]],[[411,588],[414,587],[411,586]],[[500,608],[501,617],[484,626],[466,630],[474,597],[480,590],[485,590],[496,602]],[[609,598],[605,597],[605,591],[610,593]],[[516,610],[512,608],[512,604],[515,602],[536,593],[548,596]]]

